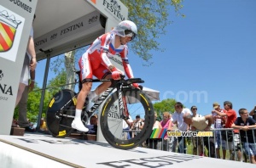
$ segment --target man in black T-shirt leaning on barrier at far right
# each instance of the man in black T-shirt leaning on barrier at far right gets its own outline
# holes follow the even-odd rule
[[[247,109],[239,109],[240,117],[237,117],[232,128],[240,129],[242,147],[245,149],[246,154],[250,157],[251,163],[256,164],[256,142],[255,131],[251,128],[256,128],[256,121],[248,116]]]

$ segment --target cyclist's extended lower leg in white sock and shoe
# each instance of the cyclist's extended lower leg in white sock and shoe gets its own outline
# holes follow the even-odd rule
[[[89,129],[84,126],[84,124],[81,120],[81,114],[82,114],[82,109],[84,107],[85,98],[88,95],[88,93],[90,92],[91,85],[92,85],[91,82],[83,83],[83,87],[78,95],[78,101],[77,101],[77,105],[76,105],[76,114],[75,114],[74,120],[71,125],[74,129],[77,129],[81,132],[89,131]]]

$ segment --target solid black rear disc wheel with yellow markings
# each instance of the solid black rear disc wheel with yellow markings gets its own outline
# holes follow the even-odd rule
[[[63,89],[50,100],[46,111],[46,125],[53,137],[68,137],[73,132],[71,123],[75,115],[75,95],[72,90]],[[61,110],[62,107],[64,108]]]

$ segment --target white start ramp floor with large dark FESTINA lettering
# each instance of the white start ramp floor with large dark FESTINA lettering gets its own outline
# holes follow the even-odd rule
[[[0,135],[0,167],[255,167],[255,165],[190,154],[134,148],[120,150],[108,143],[43,134]]]

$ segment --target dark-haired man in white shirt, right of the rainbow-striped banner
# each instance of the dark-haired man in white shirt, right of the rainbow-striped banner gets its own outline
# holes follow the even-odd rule
[[[183,115],[185,114],[191,114],[191,111],[187,108],[183,108],[183,104],[180,102],[177,102],[174,105],[175,108],[175,112],[172,115],[172,122],[173,123],[177,123],[177,129],[181,132],[187,132],[189,129],[188,124],[186,124],[183,121]],[[186,141],[185,141],[185,137],[177,137],[177,141],[178,141],[178,153],[182,153],[182,154],[186,154],[186,150],[187,150],[187,145],[186,145]]]

